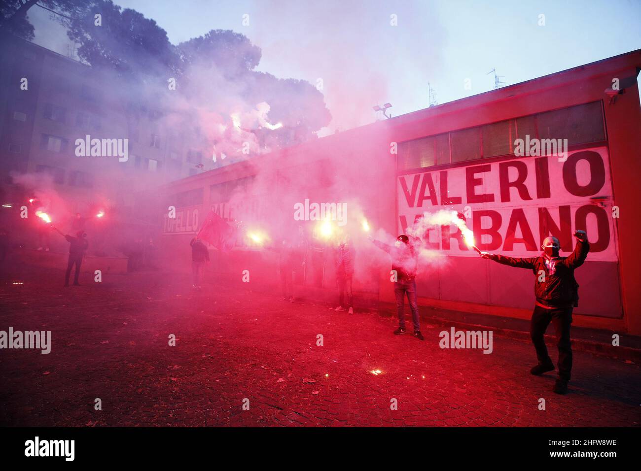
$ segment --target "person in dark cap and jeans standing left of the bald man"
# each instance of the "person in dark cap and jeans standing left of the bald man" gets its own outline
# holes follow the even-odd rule
[[[384,244],[374,240],[374,245],[384,250],[392,257],[392,270],[395,272],[394,295],[396,297],[396,310],[399,317],[399,328],[394,331],[394,335],[406,334],[404,300],[407,295],[412,311],[412,322],[414,324],[414,336],[419,340],[424,340],[420,333],[419,324],[419,306],[416,301],[416,272],[419,265],[419,259],[413,245],[410,244],[410,238],[402,234],[396,238],[394,245]]]

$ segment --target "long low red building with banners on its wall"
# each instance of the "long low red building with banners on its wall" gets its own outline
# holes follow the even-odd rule
[[[292,203],[304,199],[358,200],[372,226],[393,235],[426,211],[460,211],[479,249],[510,256],[540,253],[547,235],[567,255],[583,229],[592,251],[576,270],[574,324],[641,335],[640,67],[633,51],[172,183],[163,192],[178,216],[162,208],[163,244],[179,266],[208,211],[229,221],[291,219]],[[239,185],[256,190],[238,198]],[[419,276],[420,304],[529,318],[531,272],[482,260],[450,225],[429,227],[425,240],[441,256]],[[220,273],[251,266],[257,281],[274,279],[273,265],[261,269],[269,256],[253,247],[217,259]],[[332,289],[328,267],[320,286]],[[372,267],[374,283],[365,277],[354,289],[392,301],[387,265]],[[319,270],[310,270],[301,281],[317,286]]]

